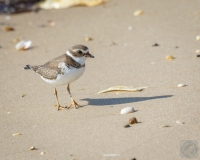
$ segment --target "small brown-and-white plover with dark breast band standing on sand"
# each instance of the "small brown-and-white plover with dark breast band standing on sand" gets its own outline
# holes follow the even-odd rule
[[[81,77],[85,71],[85,60],[94,58],[85,45],[75,45],[69,48],[65,54],[48,61],[43,65],[26,65],[25,70],[32,70],[37,73],[45,82],[55,86],[54,95],[56,97],[57,109],[69,109],[74,106],[76,109],[81,107],[72,97],[70,84]],[[69,107],[63,107],[58,100],[57,86],[67,85],[71,103]]]

